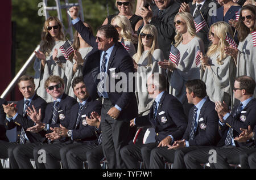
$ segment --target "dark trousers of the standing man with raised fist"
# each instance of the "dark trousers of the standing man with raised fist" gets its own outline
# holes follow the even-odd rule
[[[109,99],[104,99],[101,109],[103,152],[110,169],[126,168],[122,161],[120,150],[127,145],[131,119],[113,119],[107,114],[112,107],[112,102]]]

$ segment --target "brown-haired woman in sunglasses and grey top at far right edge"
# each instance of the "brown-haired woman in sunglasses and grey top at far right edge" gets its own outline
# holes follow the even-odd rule
[[[231,46],[226,48],[226,53],[237,60],[237,76],[247,75],[256,79],[256,45],[253,45],[253,35],[256,34],[256,6],[245,5],[241,8],[237,23],[239,45],[237,49]],[[256,43],[256,42],[255,42]],[[254,90],[254,96],[256,89]]]

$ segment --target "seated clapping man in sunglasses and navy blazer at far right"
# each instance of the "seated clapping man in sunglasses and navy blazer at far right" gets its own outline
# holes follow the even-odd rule
[[[254,140],[236,138],[241,134],[241,128],[246,129],[249,125],[255,127],[256,99],[253,98],[255,81],[249,76],[236,78],[234,83],[234,97],[240,100],[240,104],[234,106],[232,112],[225,104],[216,102],[216,111],[220,122],[218,131],[221,136],[217,147],[205,147],[187,153],[184,157],[187,168],[202,168],[200,164],[208,162],[209,151],[216,150],[216,161],[211,162],[212,168],[232,168],[229,164],[240,164],[247,168],[247,163],[242,159],[254,147]],[[237,109],[240,109],[237,112]],[[230,113],[229,113],[230,112]],[[248,152],[246,152],[248,151]],[[243,152],[243,155],[241,154]],[[242,161],[241,161],[242,160]]]

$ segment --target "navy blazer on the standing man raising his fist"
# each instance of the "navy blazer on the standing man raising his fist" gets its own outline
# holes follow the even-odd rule
[[[85,59],[84,66],[82,67],[82,75],[84,76],[86,89],[88,89],[90,97],[94,100],[98,98],[97,85],[99,83],[99,79],[97,79],[97,75],[100,73],[100,55],[102,51],[98,50],[96,37],[90,33],[89,29],[85,27],[81,20],[73,26],[77,32],[80,33],[81,37],[93,47],[92,51]],[[110,71],[110,68],[112,71]],[[133,79],[128,80],[129,72],[134,72],[133,59],[128,54],[127,50],[123,48],[123,45],[120,42],[115,42],[114,44],[106,72],[110,79],[109,84],[107,84],[110,89],[112,88],[110,84],[114,84],[115,87],[119,87],[118,84],[121,82],[123,83],[122,87],[124,88],[122,92],[118,92],[117,89],[114,89],[113,92],[108,92],[108,96],[112,104],[117,104],[122,108],[118,119],[126,119],[126,121],[130,121],[137,117],[138,106],[134,89],[129,89],[129,83],[134,84],[134,81],[131,82]],[[120,76],[113,78],[114,73],[115,75],[118,75],[119,72],[125,73],[127,79]],[[124,85],[125,82],[127,82],[126,87]],[[129,92],[131,90],[133,92]]]

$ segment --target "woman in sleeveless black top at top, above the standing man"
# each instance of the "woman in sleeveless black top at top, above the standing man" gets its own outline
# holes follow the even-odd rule
[[[116,15],[123,15],[130,20],[131,28],[133,28],[133,31],[136,33],[138,31],[138,28],[141,27],[141,25],[143,24],[143,20],[141,16],[137,16],[133,13],[134,5],[135,5],[135,0],[116,0],[115,6],[118,8],[119,13],[109,15],[104,20],[102,25],[110,24],[112,22],[112,19]]]

